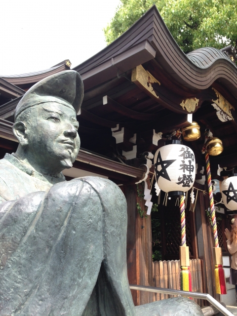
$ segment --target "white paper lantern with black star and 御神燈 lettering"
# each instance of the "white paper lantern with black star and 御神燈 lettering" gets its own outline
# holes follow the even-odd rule
[[[189,191],[195,181],[195,156],[178,140],[159,148],[155,154],[155,175],[159,188],[172,196]]]

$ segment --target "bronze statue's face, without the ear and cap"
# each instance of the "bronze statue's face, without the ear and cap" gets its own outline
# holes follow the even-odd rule
[[[35,111],[37,113],[35,113]],[[79,123],[73,109],[58,103],[34,107],[32,124],[26,122],[28,154],[39,159],[52,173],[72,167],[80,147]]]

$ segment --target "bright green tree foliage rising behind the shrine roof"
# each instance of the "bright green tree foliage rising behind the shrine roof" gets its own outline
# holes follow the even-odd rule
[[[206,46],[237,47],[237,0],[120,0],[115,16],[104,29],[107,44],[153,4],[185,53]]]

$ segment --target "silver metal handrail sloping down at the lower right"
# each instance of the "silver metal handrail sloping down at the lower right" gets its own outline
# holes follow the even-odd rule
[[[210,302],[215,308],[218,309],[222,314],[225,316],[234,316],[230,311],[228,311],[223,305],[221,305],[217,300],[215,300],[210,294],[206,293],[198,293],[198,292],[188,292],[188,291],[181,291],[181,290],[173,290],[170,288],[161,288],[155,286],[143,286],[143,285],[129,285],[131,290],[138,290],[138,291],[146,291],[146,292],[155,292],[161,294],[169,294],[169,295],[181,295],[187,297],[193,297],[201,300],[207,300]]]

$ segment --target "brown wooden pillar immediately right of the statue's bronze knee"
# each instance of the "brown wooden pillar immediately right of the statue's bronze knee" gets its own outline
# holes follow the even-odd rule
[[[139,184],[139,189],[143,187]],[[145,210],[143,197],[139,197],[136,185],[125,186],[127,200],[127,272],[130,284],[153,286],[151,217],[141,217],[137,203]],[[145,214],[144,214],[145,215]],[[135,305],[153,302],[153,293],[132,290]]]

